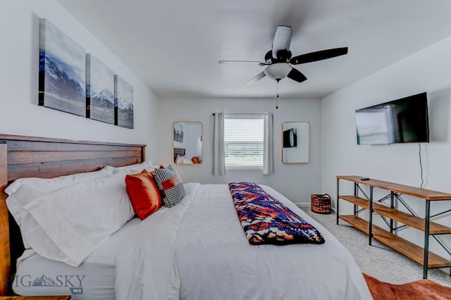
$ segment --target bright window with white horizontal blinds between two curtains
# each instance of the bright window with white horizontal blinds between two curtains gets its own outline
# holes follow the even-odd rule
[[[263,169],[264,114],[224,115],[224,156],[227,169]]]

